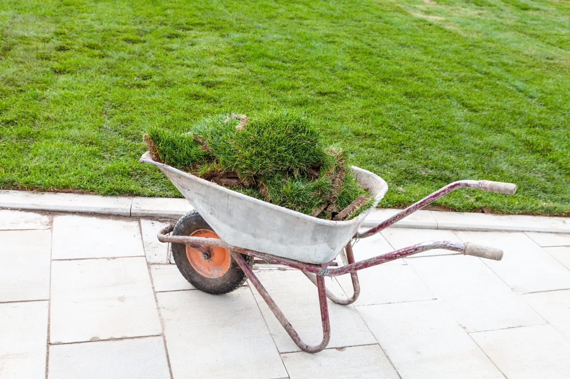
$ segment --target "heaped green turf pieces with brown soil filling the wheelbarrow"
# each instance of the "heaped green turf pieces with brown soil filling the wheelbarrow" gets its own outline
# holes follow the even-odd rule
[[[350,220],[374,200],[343,149],[324,146],[300,113],[219,114],[190,131],[151,127],[144,139],[157,162],[314,217]]]

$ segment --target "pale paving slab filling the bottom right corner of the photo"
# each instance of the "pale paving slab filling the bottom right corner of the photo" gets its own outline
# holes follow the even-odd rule
[[[471,333],[508,379],[567,379],[570,341],[551,325]]]

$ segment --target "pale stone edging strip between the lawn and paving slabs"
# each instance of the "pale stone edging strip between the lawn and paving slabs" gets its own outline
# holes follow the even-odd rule
[[[154,217],[174,220],[193,209],[186,199],[9,190],[0,190],[0,208],[91,212],[105,215]],[[374,209],[364,221],[363,226],[374,226],[396,212],[398,212],[398,209]],[[391,227],[570,233],[570,217],[417,211]]]

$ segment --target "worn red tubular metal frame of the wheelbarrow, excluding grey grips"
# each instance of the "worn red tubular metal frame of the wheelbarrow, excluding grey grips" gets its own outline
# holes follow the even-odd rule
[[[460,180],[459,182],[454,182],[448,184],[447,186],[441,188],[429,196],[424,197],[424,199],[418,201],[417,203],[410,205],[410,207],[404,209],[401,212],[396,213],[396,215],[390,217],[389,219],[382,221],[382,223],[370,228],[364,233],[357,233],[355,238],[366,238],[380,232],[380,230],[387,228],[388,226],[400,221],[404,217],[410,215],[413,212],[424,208],[426,205],[432,203],[433,201],[439,199],[439,197],[445,196],[447,193],[457,190],[457,188],[471,187],[471,188],[482,188],[484,181],[479,180]],[[344,254],[346,257],[346,262],[344,266],[341,267],[328,267],[331,262],[323,263],[322,265],[314,265],[311,263],[304,263],[300,261],[295,261],[295,259],[277,257],[267,253],[256,252],[254,250],[242,249],[237,246],[232,246],[226,244],[218,238],[206,238],[206,237],[189,237],[189,236],[167,236],[166,234],[172,232],[174,225],[169,225],[166,228],[158,232],[158,240],[161,242],[172,242],[174,244],[185,244],[187,246],[192,246],[193,248],[202,249],[202,246],[219,246],[221,248],[228,249],[231,256],[238,263],[239,267],[247,275],[251,284],[254,285],[255,289],[262,296],[263,300],[267,303],[275,317],[279,320],[283,328],[287,331],[291,339],[301,348],[303,351],[308,353],[316,353],[327,347],[328,341],[331,337],[331,325],[328,316],[328,303],[327,298],[331,299],[337,304],[352,304],[358,299],[360,294],[360,284],[358,281],[358,276],[356,274],[357,270],[366,269],[368,267],[380,265],[394,259],[399,259],[402,257],[411,256],[413,254],[425,252],[431,249],[446,249],[454,252],[464,252],[465,245],[457,242],[450,241],[429,241],[423,242],[421,244],[408,246],[407,248],[402,248],[383,254],[381,256],[364,259],[363,261],[355,262],[355,258],[352,252],[352,245],[349,243],[344,248]],[[299,269],[315,284],[317,291],[319,293],[319,304],[321,313],[321,322],[323,324],[323,340],[318,345],[308,345],[299,337],[299,334],[295,331],[290,322],[288,322],[286,316],[279,309],[277,304],[271,298],[265,287],[259,281],[253,270],[249,265],[247,265],[245,259],[241,256],[245,254],[255,258],[264,259],[267,262],[275,263],[278,265],[285,265],[295,269]],[[344,257],[343,257],[344,258]],[[344,260],[344,259],[343,259]],[[337,296],[329,293],[325,286],[324,277],[337,277],[340,275],[351,274],[353,295],[347,299],[341,299]]]

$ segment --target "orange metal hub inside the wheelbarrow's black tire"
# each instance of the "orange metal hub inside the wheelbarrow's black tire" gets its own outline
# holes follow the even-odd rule
[[[208,229],[195,230],[190,236],[219,238],[218,234]],[[205,256],[203,252],[186,246],[186,257],[188,257],[190,265],[203,277],[212,279],[223,277],[231,266],[230,251],[218,246],[200,246],[209,253],[209,257]]]

